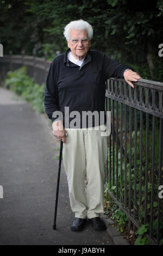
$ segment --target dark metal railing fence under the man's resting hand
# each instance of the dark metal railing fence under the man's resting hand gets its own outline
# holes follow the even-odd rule
[[[108,193],[128,216],[133,231],[146,224],[152,244],[163,237],[162,185],[163,83],[139,80],[131,88],[123,79],[106,83],[111,136],[106,167]]]

